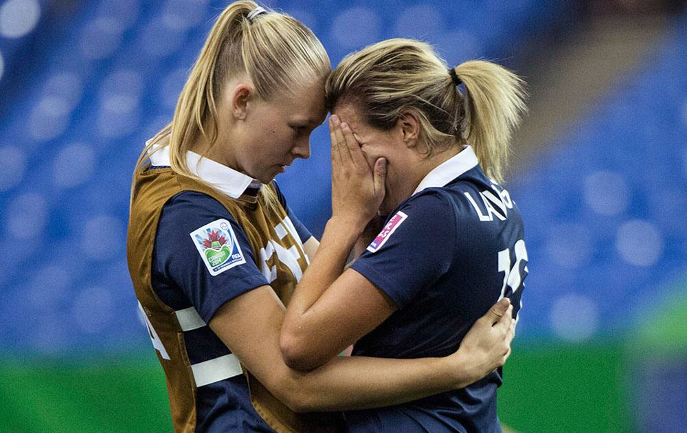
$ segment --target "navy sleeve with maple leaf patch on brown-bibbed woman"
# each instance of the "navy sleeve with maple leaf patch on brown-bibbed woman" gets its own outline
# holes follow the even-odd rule
[[[153,266],[205,323],[225,302],[269,284],[256,263],[243,227],[212,197],[185,191],[162,208]]]

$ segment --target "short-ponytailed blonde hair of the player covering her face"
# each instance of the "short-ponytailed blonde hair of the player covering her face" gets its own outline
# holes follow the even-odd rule
[[[510,138],[526,111],[524,82],[484,60],[453,70],[466,97],[431,45],[401,38],[375,43],[336,67],[326,83],[327,107],[357,104],[365,120],[383,130],[412,110],[420,120],[419,139],[427,156],[456,143],[470,144],[486,175],[503,181]]]

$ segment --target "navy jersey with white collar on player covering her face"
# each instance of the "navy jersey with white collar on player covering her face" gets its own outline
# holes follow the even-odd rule
[[[355,344],[353,355],[450,355],[502,296],[510,298],[517,315],[526,265],[515,203],[465,148],[423,179],[352,265],[398,308]],[[462,390],[346,412],[346,423],[353,432],[500,432],[501,384],[499,370]]]

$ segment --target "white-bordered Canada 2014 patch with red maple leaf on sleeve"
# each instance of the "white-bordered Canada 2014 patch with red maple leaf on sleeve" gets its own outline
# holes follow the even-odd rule
[[[226,219],[205,224],[190,236],[212,276],[246,263],[232,225]]]

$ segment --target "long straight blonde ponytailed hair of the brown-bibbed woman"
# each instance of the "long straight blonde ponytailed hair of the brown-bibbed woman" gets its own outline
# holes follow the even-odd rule
[[[308,27],[271,10],[249,19],[257,7],[254,1],[234,1],[217,17],[181,90],[172,122],[148,142],[137,169],[151,153],[169,146],[174,172],[210,186],[193,175],[186,153],[199,140],[210,146],[216,142],[216,101],[231,76],[247,76],[256,96],[270,100],[275,94],[324,81],[330,74],[327,53]],[[262,195],[268,203],[276,201],[269,188],[262,188]]]

